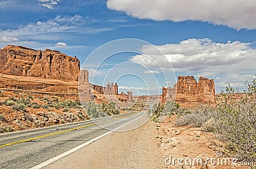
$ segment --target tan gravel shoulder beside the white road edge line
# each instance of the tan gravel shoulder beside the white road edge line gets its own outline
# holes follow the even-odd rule
[[[155,125],[111,133],[45,168],[165,168]]]

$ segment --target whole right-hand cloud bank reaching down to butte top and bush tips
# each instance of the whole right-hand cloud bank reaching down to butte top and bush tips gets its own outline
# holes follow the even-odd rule
[[[216,43],[207,38],[188,39],[157,46],[164,54],[152,45],[144,45],[141,55],[134,55],[130,60],[149,69],[157,69],[153,62],[156,61],[163,70],[170,69],[168,60],[178,75],[187,73],[214,78],[219,89],[223,89],[227,82],[241,87],[244,81],[251,80],[256,74],[256,49],[251,45],[240,41]]]

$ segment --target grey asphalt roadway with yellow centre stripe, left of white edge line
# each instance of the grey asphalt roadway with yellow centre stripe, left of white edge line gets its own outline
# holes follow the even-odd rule
[[[0,168],[31,168],[124,126],[143,112],[0,135]]]

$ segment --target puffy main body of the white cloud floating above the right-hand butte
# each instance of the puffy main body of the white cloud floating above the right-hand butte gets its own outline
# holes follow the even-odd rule
[[[250,48],[250,43],[228,41],[227,43],[214,43],[212,40],[189,39],[178,44],[157,46],[164,55],[152,45],[141,48],[143,55],[135,55],[130,60],[140,62],[149,68],[154,66],[152,60],[161,63],[161,68],[169,68],[172,63],[175,71],[205,71],[223,66],[238,64],[244,60],[255,58],[256,50]],[[151,59],[148,59],[149,56]]]

